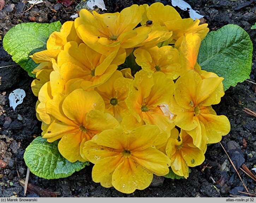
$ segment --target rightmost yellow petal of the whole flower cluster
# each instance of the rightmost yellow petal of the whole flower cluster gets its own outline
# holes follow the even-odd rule
[[[200,121],[206,128],[207,144],[218,143],[230,132],[230,122],[224,115],[200,114]]]

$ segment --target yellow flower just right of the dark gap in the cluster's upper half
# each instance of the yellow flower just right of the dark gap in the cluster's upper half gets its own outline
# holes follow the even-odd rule
[[[179,52],[171,46],[138,48],[133,54],[136,63],[145,71],[163,72],[172,80],[177,79],[180,74]]]

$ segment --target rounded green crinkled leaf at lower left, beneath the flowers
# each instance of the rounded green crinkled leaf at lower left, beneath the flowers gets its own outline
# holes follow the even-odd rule
[[[26,148],[24,160],[33,174],[44,179],[65,178],[89,165],[88,161],[69,162],[59,153],[58,141],[50,143],[41,136]]]

